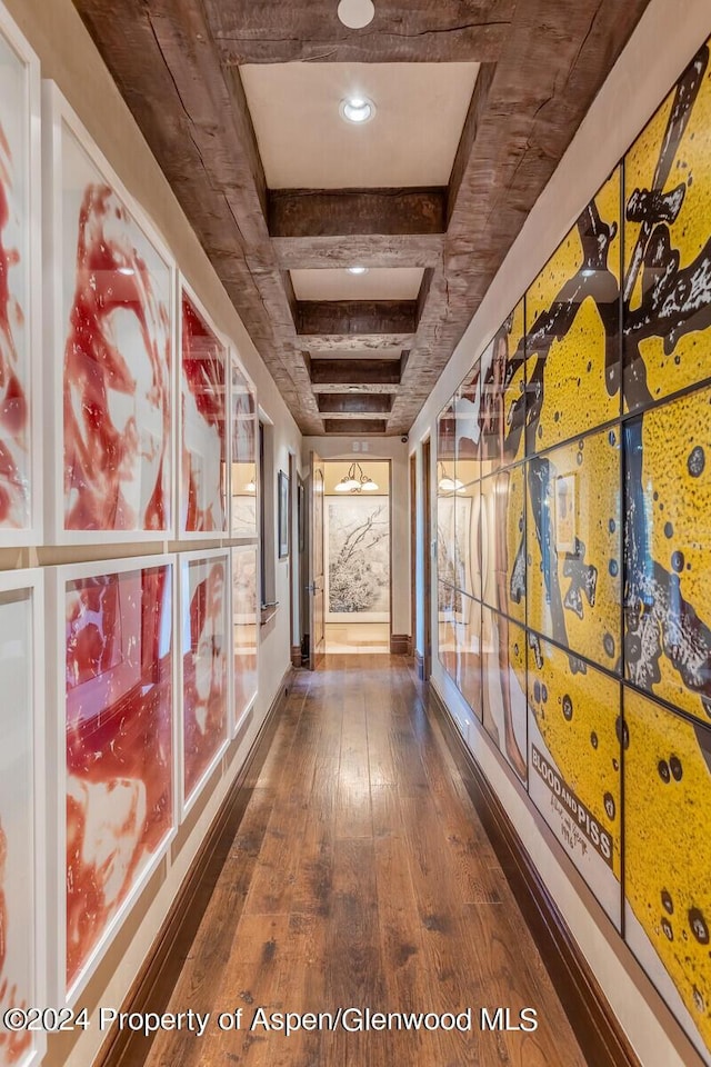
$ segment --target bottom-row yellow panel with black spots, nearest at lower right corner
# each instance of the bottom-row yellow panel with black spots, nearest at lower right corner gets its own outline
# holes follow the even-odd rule
[[[624,692],[625,938],[711,1064],[711,729]]]

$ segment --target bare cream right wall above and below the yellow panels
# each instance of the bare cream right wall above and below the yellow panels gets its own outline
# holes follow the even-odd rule
[[[438,412],[710,32],[708,0],[652,0],[410,430],[411,441],[420,442],[431,433],[434,446]],[[432,485],[435,482],[435,471],[432,470]],[[421,515],[419,518],[421,520]],[[434,523],[432,529],[435,529]],[[433,581],[435,579],[433,575]],[[422,559],[419,552],[418,604],[422,602],[421,590]],[[433,589],[434,641],[437,602],[437,590]],[[421,649],[419,620],[418,641]],[[559,861],[558,845],[548,827],[522,797],[499,754],[473,722],[471,711],[444,675],[437,651],[432,679],[534,858],[642,1065],[699,1065],[699,1056],[619,936],[611,931],[582,879],[571,865]]]

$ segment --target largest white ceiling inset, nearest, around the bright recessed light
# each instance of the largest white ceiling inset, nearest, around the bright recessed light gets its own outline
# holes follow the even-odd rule
[[[445,186],[479,63],[240,67],[270,189]],[[346,97],[378,113],[344,122]]]

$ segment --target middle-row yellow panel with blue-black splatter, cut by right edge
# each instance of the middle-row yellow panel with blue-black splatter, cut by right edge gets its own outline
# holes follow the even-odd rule
[[[711,718],[711,388],[624,425],[625,671]]]

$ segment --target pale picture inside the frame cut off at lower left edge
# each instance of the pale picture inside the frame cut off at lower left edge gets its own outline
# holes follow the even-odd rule
[[[0,584],[0,1013],[37,996],[32,590]],[[40,709],[38,709],[39,711]],[[34,1063],[37,1035],[0,1028],[0,1065]]]

